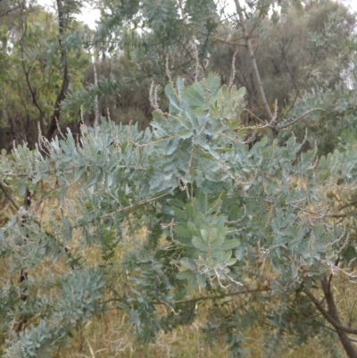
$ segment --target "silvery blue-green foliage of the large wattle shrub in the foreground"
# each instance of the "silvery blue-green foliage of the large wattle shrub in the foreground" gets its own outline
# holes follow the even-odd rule
[[[262,262],[273,279],[257,289],[258,303],[284,294],[265,319],[275,337],[299,332],[296,316],[310,307],[303,289],[337,257],[353,265],[354,221],[335,221],[333,196],[355,189],[354,146],[321,158],[316,148],[299,154],[294,136],[284,146],[263,137],[249,147],[240,123],[245,89],[220,87],[215,74],[191,86],[178,79],[165,93],[170,111],[156,106],[152,129],[104,121],[83,127],[79,141],[68,130],[35,151],[18,146],[1,157],[3,185],[20,196],[29,187],[36,198],[42,182],[55,198],[46,220],[21,208],[0,229],[13,277],[29,272],[1,287],[1,329],[11,337],[5,357],[49,356],[109,304],[129,315],[138,337],[152,339],[193,321],[195,301],[185,300],[198,292],[219,299],[256,287],[262,273],[253,267]],[[95,260],[87,259],[91,248]],[[64,273],[43,270],[48,262]],[[161,304],[172,313],[160,317]],[[258,313],[224,309],[215,306],[206,332],[223,329],[238,356]],[[25,329],[16,332],[11,321]]]

